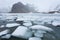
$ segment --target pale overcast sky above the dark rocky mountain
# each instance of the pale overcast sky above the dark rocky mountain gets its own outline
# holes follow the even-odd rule
[[[54,9],[60,4],[60,0],[0,0],[0,9],[9,9],[14,3],[33,4],[40,12]]]

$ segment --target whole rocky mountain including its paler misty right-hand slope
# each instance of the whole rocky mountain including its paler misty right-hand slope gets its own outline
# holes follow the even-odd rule
[[[36,12],[34,7],[30,7],[29,5],[24,5],[21,2],[15,3],[12,7],[10,13],[29,13]]]

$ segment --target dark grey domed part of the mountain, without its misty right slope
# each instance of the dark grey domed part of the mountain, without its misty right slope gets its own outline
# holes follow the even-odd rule
[[[26,13],[29,12],[25,5],[22,4],[21,2],[18,2],[16,4],[13,5],[11,13]]]

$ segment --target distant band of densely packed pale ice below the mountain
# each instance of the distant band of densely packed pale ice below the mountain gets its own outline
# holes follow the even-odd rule
[[[2,19],[13,19],[14,17],[21,18],[23,20],[42,20],[44,18],[50,18],[50,19],[60,19],[60,14],[42,14],[42,13],[0,13],[0,18]]]

